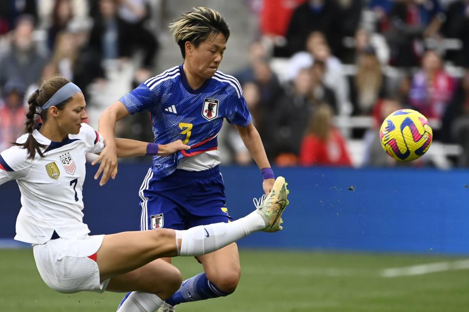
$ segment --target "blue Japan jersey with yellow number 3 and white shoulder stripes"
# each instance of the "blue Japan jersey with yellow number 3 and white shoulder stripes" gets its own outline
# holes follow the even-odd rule
[[[223,124],[248,126],[251,122],[241,86],[233,76],[217,71],[196,90],[189,86],[183,65],[149,78],[120,101],[130,114],[149,111],[155,143],[181,139],[190,145],[172,157],[153,156],[155,176],[174,172],[183,157],[217,149],[216,136]]]

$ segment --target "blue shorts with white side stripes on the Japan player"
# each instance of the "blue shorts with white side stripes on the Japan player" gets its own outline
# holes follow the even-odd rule
[[[218,166],[204,171],[176,170],[153,177],[151,168],[139,191],[140,230],[187,230],[198,225],[230,222],[225,184]]]

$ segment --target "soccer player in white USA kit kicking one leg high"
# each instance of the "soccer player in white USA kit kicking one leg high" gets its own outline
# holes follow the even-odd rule
[[[252,232],[281,229],[286,182],[274,188],[255,212],[231,223],[177,231],[136,231],[88,235],[83,223],[85,154],[99,153],[105,140],[89,125],[81,90],[62,76],[47,78],[28,100],[26,134],[0,153],[0,185],[15,179],[21,210],[15,239],[33,245],[44,282],[58,292],[132,292],[121,312],[169,308],[163,302],[181,284],[179,271],[160,257],[213,252]],[[34,127],[34,116],[43,124]],[[152,155],[152,144],[117,139],[118,156]],[[157,146],[160,156],[188,149],[181,140]],[[96,159],[94,163],[99,161]],[[159,273],[159,281],[148,276]]]

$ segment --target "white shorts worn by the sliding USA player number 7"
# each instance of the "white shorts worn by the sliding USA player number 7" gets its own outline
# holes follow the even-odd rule
[[[76,239],[57,238],[33,245],[34,259],[43,281],[57,292],[104,292],[109,279],[100,282],[95,260],[104,235]]]

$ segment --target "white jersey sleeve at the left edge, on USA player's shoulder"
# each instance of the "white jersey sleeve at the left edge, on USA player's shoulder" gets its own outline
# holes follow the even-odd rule
[[[33,162],[27,157],[27,150],[20,146],[12,146],[0,153],[0,185],[28,176]]]

